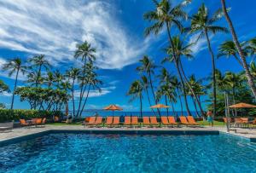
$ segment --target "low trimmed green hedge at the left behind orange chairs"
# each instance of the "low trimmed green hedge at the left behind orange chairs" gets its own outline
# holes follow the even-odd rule
[[[8,121],[18,121],[22,119],[31,119],[31,118],[48,118],[51,119],[54,116],[63,116],[62,112],[49,112],[49,111],[38,111],[38,110],[26,110],[26,109],[0,109],[0,123]]]

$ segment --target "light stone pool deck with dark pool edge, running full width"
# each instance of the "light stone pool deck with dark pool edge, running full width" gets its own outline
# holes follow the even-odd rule
[[[26,136],[41,136],[42,134],[49,133],[50,131],[55,132],[84,132],[84,133],[130,133],[132,134],[194,134],[194,133],[211,133],[220,132],[226,133],[234,136],[243,137],[249,141],[256,142],[256,130],[248,130],[248,129],[238,129],[236,128],[235,131],[230,131],[227,133],[224,127],[181,127],[181,128],[168,128],[168,127],[161,127],[161,128],[128,128],[128,127],[121,127],[121,128],[88,128],[82,125],[46,125],[45,127],[38,127],[38,128],[15,128],[10,132],[3,132],[0,133],[0,144],[5,143],[5,141],[18,141],[18,139],[25,138]],[[155,133],[154,133],[155,132]],[[187,133],[189,132],[189,133]]]

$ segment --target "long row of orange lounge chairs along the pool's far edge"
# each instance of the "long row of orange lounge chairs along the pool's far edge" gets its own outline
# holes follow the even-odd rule
[[[143,117],[143,122],[139,122],[139,118],[137,116],[130,117],[130,116],[125,116],[125,121],[124,123],[120,122],[119,117],[107,117],[105,121],[103,121],[102,117],[90,117],[89,122],[84,122],[84,126],[89,126],[89,127],[101,127],[101,126],[107,126],[107,127],[119,127],[120,125],[123,126],[178,126],[180,124],[186,125],[186,126],[201,126],[200,124],[195,122],[195,119],[192,116],[184,117],[180,116],[180,123],[177,123],[175,118],[173,116],[162,116],[160,118],[160,122],[157,121],[156,117]]]

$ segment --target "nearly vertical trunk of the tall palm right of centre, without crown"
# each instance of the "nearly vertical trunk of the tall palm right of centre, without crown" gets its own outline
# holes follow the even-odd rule
[[[213,82],[213,86],[212,86],[212,92],[213,92],[213,118],[216,116],[216,77],[215,77],[215,59],[214,59],[214,55],[213,55],[213,52],[212,52],[212,46],[211,46],[211,43],[210,43],[210,39],[209,39],[209,36],[208,36],[208,32],[207,30],[205,29],[205,35],[207,37],[207,46],[208,46],[208,49],[209,49],[209,52],[210,52],[210,55],[212,56],[212,82]]]

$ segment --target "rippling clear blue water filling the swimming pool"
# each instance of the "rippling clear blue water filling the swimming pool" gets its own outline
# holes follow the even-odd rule
[[[256,172],[232,136],[51,134],[0,148],[1,172]]]

